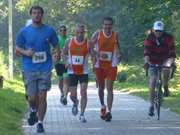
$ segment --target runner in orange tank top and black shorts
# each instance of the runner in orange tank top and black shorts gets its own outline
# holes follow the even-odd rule
[[[78,114],[77,85],[80,82],[81,113],[79,120],[86,122],[84,115],[87,104],[87,86],[88,86],[88,56],[89,41],[85,38],[85,26],[77,24],[75,36],[65,43],[63,50],[63,59],[68,70],[70,98],[73,102],[72,114]]]

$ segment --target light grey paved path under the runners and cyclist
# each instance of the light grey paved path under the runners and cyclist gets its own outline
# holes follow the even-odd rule
[[[147,116],[148,103],[126,93],[115,92],[113,119],[107,123],[99,117],[97,89],[88,88],[87,123],[80,123],[71,114],[72,102],[62,106],[56,85],[48,93],[48,110],[44,127],[46,135],[180,135],[180,116],[163,109],[161,120]],[[35,135],[36,126],[23,125],[25,135]]]

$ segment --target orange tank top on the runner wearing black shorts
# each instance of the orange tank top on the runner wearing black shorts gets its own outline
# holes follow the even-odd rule
[[[88,54],[87,39],[85,39],[81,43],[78,43],[75,38],[72,38],[69,45],[69,54],[70,54],[73,74],[77,74],[77,75],[83,74],[84,61],[86,55]]]

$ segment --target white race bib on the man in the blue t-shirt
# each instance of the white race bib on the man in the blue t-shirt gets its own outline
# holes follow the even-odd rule
[[[33,54],[32,62],[33,63],[43,63],[47,60],[46,52],[36,52]]]

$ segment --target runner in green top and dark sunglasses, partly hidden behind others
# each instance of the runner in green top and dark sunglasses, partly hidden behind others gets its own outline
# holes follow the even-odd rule
[[[68,36],[66,34],[67,28],[65,25],[61,25],[59,28],[59,45],[60,48],[64,48],[65,41],[67,40]],[[67,69],[65,68],[64,61],[61,59],[55,64],[56,73],[59,76],[59,89],[60,89],[60,102],[63,105],[67,105],[67,94],[68,94],[68,76],[67,76]]]

